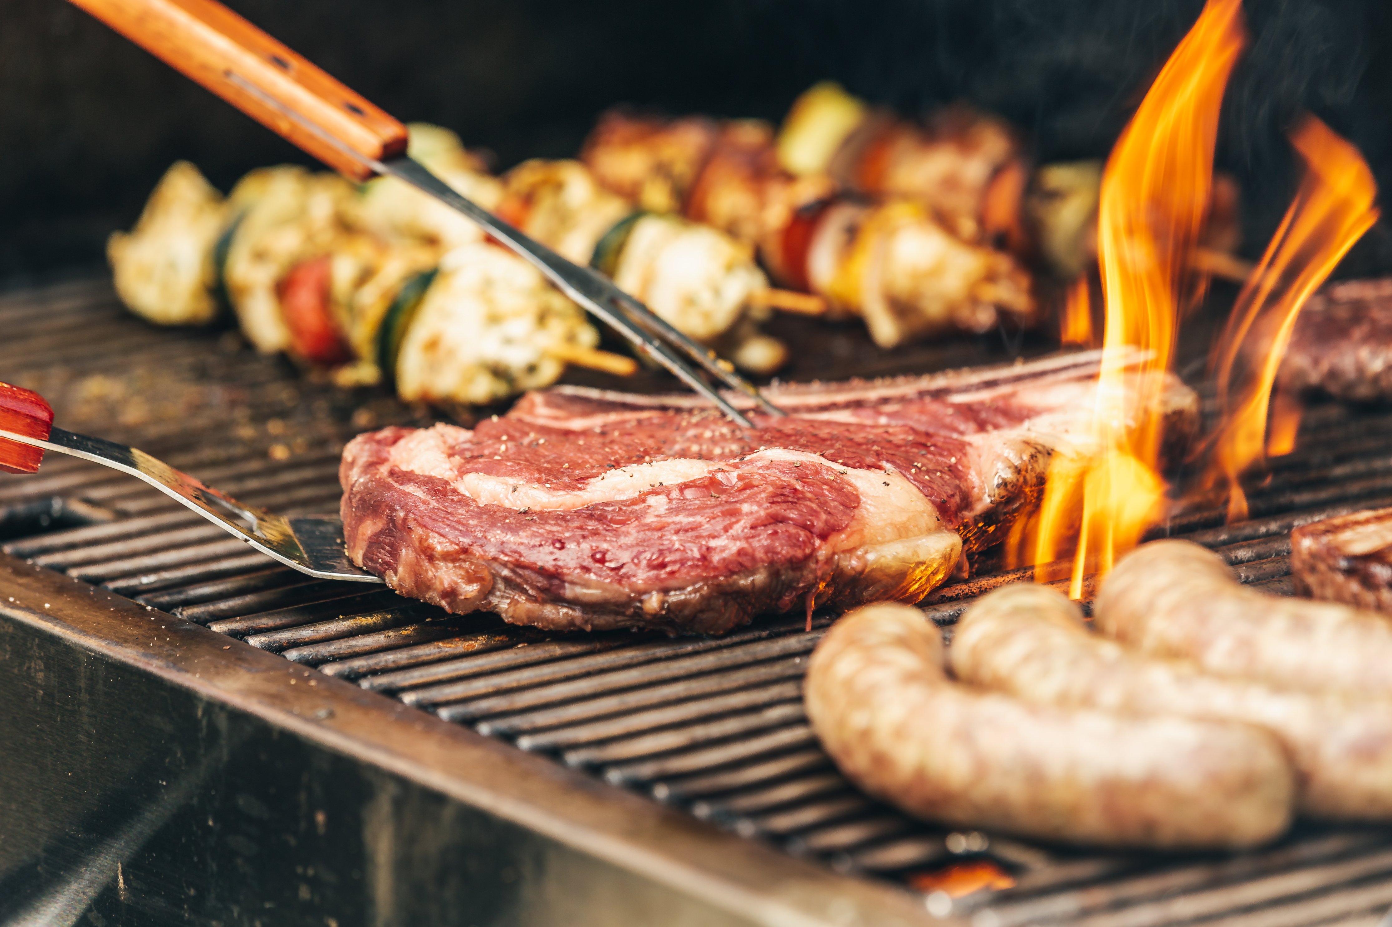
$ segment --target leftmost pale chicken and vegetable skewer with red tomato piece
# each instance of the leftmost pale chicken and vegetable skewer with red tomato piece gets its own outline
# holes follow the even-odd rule
[[[221,200],[178,164],[136,229],[113,236],[117,292],[164,324],[206,321],[226,296],[259,350],[338,367],[344,384],[395,381],[408,400],[490,403],[550,385],[567,363],[626,360],[594,357],[599,332],[530,264],[388,183],[359,193],[333,174],[264,168]],[[220,229],[203,220],[199,261],[161,264],[160,240],[178,236],[189,202]],[[432,220],[444,224],[422,235]],[[180,300],[157,299],[161,279],[178,282]]]

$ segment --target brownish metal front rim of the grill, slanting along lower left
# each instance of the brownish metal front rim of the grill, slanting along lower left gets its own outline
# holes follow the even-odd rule
[[[596,787],[579,771],[349,682],[319,677],[310,688],[310,671],[273,653],[7,556],[0,556],[0,618],[42,635],[50,650],[95,657],[97,673],[131,668],[157,680],[184,696],[170,702],[185,710],[246,716],[473,809],[493,819],[491,837],[543,842],[547,864],[526,891],[558,906],[543,905],[519,923],[567,923],[561,913],[575,917],[569,923],[644,923],[657,910],[671,912],[670,923],[692,924],[927,920],[915,899],[889,885],[828,873],[624,789]],[[72,682],[50,677],[47,685]],[[120,742],[102,746],[114,750]]]

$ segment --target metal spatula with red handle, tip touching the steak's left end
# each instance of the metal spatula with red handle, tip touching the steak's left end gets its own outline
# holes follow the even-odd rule
[[[45,450],[82,457],[139,477],[228,534],[301,573],[320,580],[381,582],[380,577],[358,568],[348,559],[338,516],[287,518],[244,506],[143,450],[54,428],[53,409],[43,396],[0,384],[0,470],[38,473]]]

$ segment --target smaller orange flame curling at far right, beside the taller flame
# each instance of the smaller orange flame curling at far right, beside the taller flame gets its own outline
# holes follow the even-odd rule
[[[1239,478],[1265,463],[1267,453],[1289,453],[1295,446],[1299,406],[1282,395],[1271,402],[1271,388],[1296,315],[1378,218],[1377,183],[1356,147],[1314,117],[1296,126],[1290,142],[1306,163],[1304,178],[1257,272],[1237,295],[1214,352],[1224,416],[1205,482],[1226,482],[1229,521],[1247,517]],[[1239,370],[1239,361],[1246,370]]]

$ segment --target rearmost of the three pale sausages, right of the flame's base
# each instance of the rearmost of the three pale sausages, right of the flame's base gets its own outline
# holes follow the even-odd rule
[[[1097,630],[1151,656],[1283,689],[1392,695],[1392,623],[1375,612],[1265,595],[1187,541],[1116,563],[1093,603]]]

